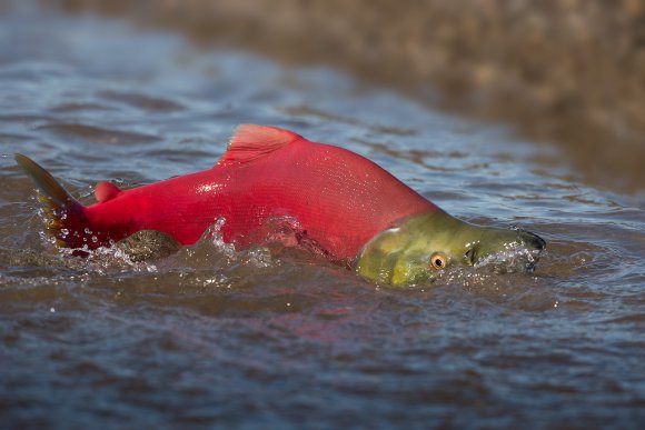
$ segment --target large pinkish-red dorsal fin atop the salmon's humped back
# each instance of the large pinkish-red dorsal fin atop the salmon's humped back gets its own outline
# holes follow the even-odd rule
[[[249,162],[271,153],[302,137],[277,127],[241,124],[237,128],[218,164]]]

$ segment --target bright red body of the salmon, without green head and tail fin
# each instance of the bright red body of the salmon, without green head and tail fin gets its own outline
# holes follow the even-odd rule
[[[240,127],[212,169],[126,191],[103,182],[96,193],[102,201],[83,208],[73,227],[77,246],[97,248],[139,230],[190,244],[224,218],[224,240],[245,247],[265,240],[272,220],[289,217],[300,238],[341,261],[394,221],[436,210],[364,157],[259,126]]]

